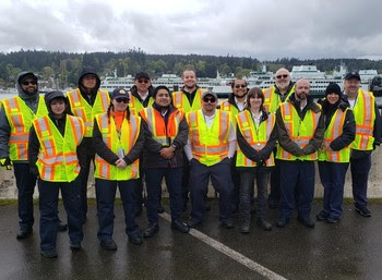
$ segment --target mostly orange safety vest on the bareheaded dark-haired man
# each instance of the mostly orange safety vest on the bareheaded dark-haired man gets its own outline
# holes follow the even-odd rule
[[[184,113],[176,109],[168,117],[167,123],[160,112],[153,107],[147,107],[141,112],[142,118],[147,123],[148,130],[153,135],[153,139],[162,144],[162,146],[169,146],[175,137],[178,135],[179,123],[183,120]]]

